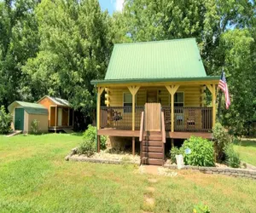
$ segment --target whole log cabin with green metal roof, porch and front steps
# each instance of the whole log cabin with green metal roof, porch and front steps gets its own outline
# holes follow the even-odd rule
[[[195,38],[115,44],[97,89],[100,135],[140,141],[143,164],[164,164],[166,138],[212,139],[219,76],[207,76]],[[207,104],[207,89],[212,96]],[[102,98],[104,105],[101,105]]]

